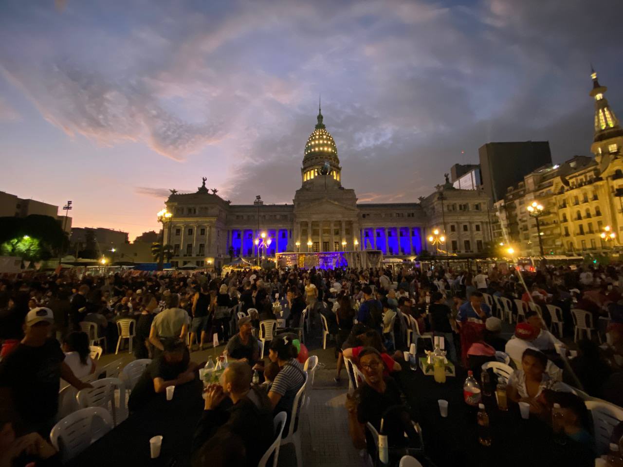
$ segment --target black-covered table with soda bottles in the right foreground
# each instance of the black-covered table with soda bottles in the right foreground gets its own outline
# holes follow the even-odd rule
[[[509,402],[508,412],[497,408],[495,394],[483,397],[489,415],[491,446],[478,443],[478,409],[463,399],[465,371],[457,367],[456,377],[435,383],[421,370],[402,369],[396,380],[422,427],[424,446],[437,467],[592,467],[594,459],[584,446],[568,440],[564,446],[553,441],[548,424],[534,415],[521,418],[518,405]],[[439,414],[438,399],[449,403],[448,417]]]

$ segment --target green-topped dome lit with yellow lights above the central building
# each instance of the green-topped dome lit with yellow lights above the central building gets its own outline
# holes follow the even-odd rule
[[[326,131],[322,123],[323,116],[318,108],[318,123],[316,129],[307,138],[305,144],[305,154],[303,156],[303,167],[301,169],[303,182],[312,180],[320,175],[321,168],[328,163],[331,167],[329,174],[336,181],[340,181],[340,159],[338,159],[338,148],[333,141],[333,136]]]

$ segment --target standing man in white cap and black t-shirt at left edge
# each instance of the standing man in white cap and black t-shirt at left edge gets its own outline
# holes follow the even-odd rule
[[[0,363],[0,410],[14,410],[26,432],[38,432],[44,438],[58,412],[60,378],[78,390],[92,387],[65,364],[59,342],[49,337],[52,324],[51,309],[31,309],[24,339]]]

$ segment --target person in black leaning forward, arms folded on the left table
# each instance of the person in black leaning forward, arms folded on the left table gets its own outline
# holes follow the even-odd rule
[[[151,361],[132,389],[128,399],[130,412],[145,407],[156,394],[166,392],[167,387],[194,380],[198,366],[190,361],[186,344],[168,339],[163,347],[163,352]]]

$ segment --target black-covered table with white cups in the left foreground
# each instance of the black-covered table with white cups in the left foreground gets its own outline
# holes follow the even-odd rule
[[[176,386],[172,400],[157,394],[140,412],[69,461],[72,467],[153,466],[176,467],[191,464],[191,444],[197,422],[201,418],[204,400],[203,384],[196,379]],[[150,438],[162,435],[160,456],[151,459]]]

